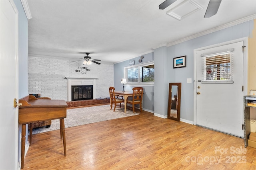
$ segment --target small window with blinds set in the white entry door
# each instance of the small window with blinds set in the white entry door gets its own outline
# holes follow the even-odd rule
[[[233,49],[202,55],[202,83],[233,83]]]

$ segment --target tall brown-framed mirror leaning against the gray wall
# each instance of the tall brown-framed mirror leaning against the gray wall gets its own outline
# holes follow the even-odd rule
[[[181,83],[169,83],[168,118],[180,121]]]

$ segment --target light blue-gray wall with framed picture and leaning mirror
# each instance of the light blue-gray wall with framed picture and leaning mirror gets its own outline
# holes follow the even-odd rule
[[[168,108],[168,85],[170,82],[181,82],[180,118],[193,121],[194,49],[248,37],[250,33],[252,33],[253,26],[254,21],[251,20],[170,47],[155,49],[154,53],[150,53],[153,55],[152,58],[154,58],[155,63],[154,88],[145,90],[145,96],[148,95],[154,99],[148,98],[147,101],[143,101],[143,108],[148,110],[153,109],[152,112],[155,115],[166,118]],[[173,58],[184,55],[187,56],[186,67],[173,68]],[[146,55],[144,55],[144,57],[145,56]],[[123,67],[128,66],[129,61],[114,64],[114,85],[118,90],[122,89],[120,80],[124,72]],[[187,83],[187,78],[192,78],[192,83]],[[145,102],[153,103],[154,106],[148,108]]]

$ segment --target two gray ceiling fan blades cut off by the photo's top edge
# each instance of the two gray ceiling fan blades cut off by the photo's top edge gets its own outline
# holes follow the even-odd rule
[[[159,5],[159,10],[164,10],[168,6],[170,6],[172,3],[174,3],[177,0],[166,0],[162,4]],[[210,18],[211,16],[214,16],[217,14],[218,9],[220,7],[221,0],[210,0],[208,7],[206,9],[204,18]]]

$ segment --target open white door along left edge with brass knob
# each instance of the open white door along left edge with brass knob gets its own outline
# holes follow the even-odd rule
[[[0,169],[18,169],[18,10],[0,0]]]

